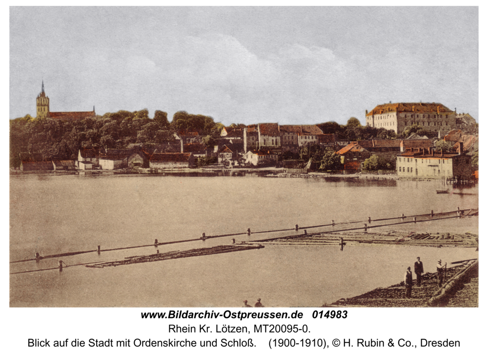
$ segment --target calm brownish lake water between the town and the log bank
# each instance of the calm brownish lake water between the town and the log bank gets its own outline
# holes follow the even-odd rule
[[[447,186],[451,189],[451,186]],[[447,188],[445,187],[445,188]],[[478,207],[478,188],[436,194],[439,182],[177,175],[14,175],[10,177],[10,260],[69,251],[146,245],[208,235],[274,230]],[[459,191],[456,189],[456,191]],[[321,229],[315,229],[321,231]],[[322,228],[322,230],[326,230]],[[478,218],[390,230],[478,232]],[[313,231],[313,230],[311,230]],[[237,236],[253,240],[290,232]],[[159,246],[160,252],[228,244],[230,237]],[[11,272],[112,261],[154,247],[10,265]],[[287,246],[120,266],[10,275],[14,307],[320,306],[398,283],[415,257],[475,258],[472,248]]]

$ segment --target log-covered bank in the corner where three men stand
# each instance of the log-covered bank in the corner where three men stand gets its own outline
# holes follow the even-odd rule
[[[322,307],[478,307],[478,259],[451,262],[446,270],[446,282],[437,285],[437,273],[422,276],[418,287],[413,280],[411,298],[405,297],[405,284],[400,282],[387,288],[352,297],[341,298]]]

